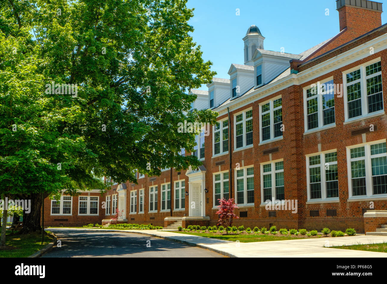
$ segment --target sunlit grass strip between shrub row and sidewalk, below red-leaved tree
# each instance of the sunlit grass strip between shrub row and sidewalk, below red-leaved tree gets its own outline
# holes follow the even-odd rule
[[[173,233],[180,233],[186,235],[195,235],[195,236],[203,236],[206,238],[214,238],[219,240],[226,241],[240,241],[241,243],[250,243],[253,241],[284,241],[284,240],[295,240],[295,239],[306,239],[313,238],[305,235],[255,235],[251,233],[250,235],[215,235],[212,233],[197,233],[197,232],[179,232],[173,231]],[[316,236],[318,238],[318,236]]]

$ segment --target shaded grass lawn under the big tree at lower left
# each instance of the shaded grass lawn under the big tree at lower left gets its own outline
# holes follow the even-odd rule
[[[46,231],[47,233],[50,233]],[[31,233],[28,235],[11,235],[7,231],[6,245],[7,249],[0,249],[0,257],[29,257],[38,252],[52,241],[51,235],[45,236],[45,242],[41,245],[41,233]],[[10,249],[11,248],[11,249]]]

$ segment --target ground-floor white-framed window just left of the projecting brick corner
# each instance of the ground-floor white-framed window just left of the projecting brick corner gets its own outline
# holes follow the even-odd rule
[[[261,203],[285,200],[284,161],[261,163]]]

